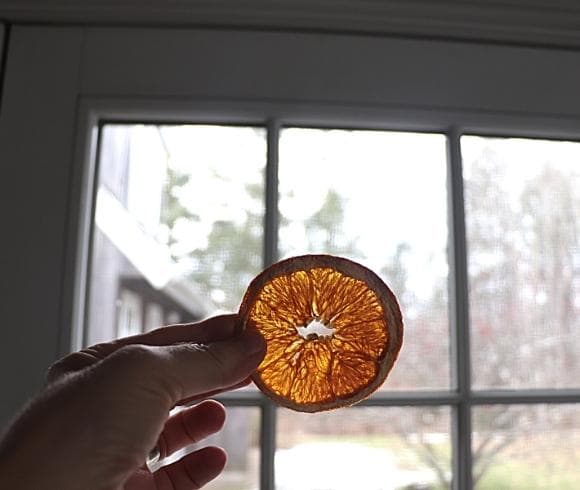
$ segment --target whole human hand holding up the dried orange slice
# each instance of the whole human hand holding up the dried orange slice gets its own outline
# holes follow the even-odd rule
[[[174,325],[70,354],[0,442],[0,488],[189,490],[225,465],[208,447],[150,473],[143,465],[218,431],[223,406],[207,400],[243,386],[265,354],[263,339],[235,335],[237,315]]]

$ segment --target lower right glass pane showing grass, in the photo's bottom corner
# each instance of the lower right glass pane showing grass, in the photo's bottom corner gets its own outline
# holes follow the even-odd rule
[[[580,488],[580,407],[510,405],[473,412],[478,490]]]

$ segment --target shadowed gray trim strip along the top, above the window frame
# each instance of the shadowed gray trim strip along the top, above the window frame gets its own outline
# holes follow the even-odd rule
[[[578,0],[0,0],[0,19],[331,30],[580,47]]]

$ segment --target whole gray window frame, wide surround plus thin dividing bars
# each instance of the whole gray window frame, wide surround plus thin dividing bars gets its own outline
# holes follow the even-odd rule
[[[580,390],[472,391],[470,369],[467,257],[459,139],[462,134],[578,139],[580,134],[580,55],[476,43],[233,30],[51,28],[20,26],[10,53],[10,79],[0,115],[0,157],[15,164],[9,175],[24,177],[39,159],[60,170],[49,184],[64,192],[68,213],[48,225],[63,230],[47,250],[33,254],[40,283],[15,292],[15,305],[39,302],[47,347],[24,366],[26,390],[39,384],[48,362],[83,345],[90,229],[98,130],[106,121],[261,124],[268,128],[264,265],[276,259],[277,143],[289,125],[435,131],[448,137],[450,192],[450,322],[453,386],[429,392],[381,393],[362,406],[449,406],[452,408],[454,487],[472,487],[471,409],[482,404],[580,403]],[[40,47],[39,47],[40,46]],[[46,59],[30,67],[31,56]],[[142,56],[142,53],[148,56]],[[172,56],[168,56],[171,53]],[[191,60],[186,63],[184,60]],[[193,62],[195,61],[195,62]],[[58,69],[44,80],[51,66]],[[24,70],[26,67],[26,70]],[[17,69],[21,68],[18,74]],[[12,75],[12,73],[15,73]],[[554,77],[554,74],[558,74]],[[36,78],[34,78],[36,77]],[[44,83],[43,83],[44,80]],[[56,84],[55,81],[62,81]],[[9,83],[8,83],[9,82]],[[56,88],[55,88],[56,87]],[[30,94],[33,93],[31,96]],[[8,98],[8,95],[10,98]],[[20,110],[20,112],[18,112]],[[59,112],[60,111],[60,112]],[[53,115],[62,114],[58,124]],[[18,125],[25,119],[29,126]],[[11,124],[14,123],[14,124]],[[34,130],[37,145],[12,141]],[[56,142],[55,142],[56,138]],[[3,148],[2,143],[6,143]],[[43,143],[44,146],[43,146]],[[7,160],[8,161],[8,160]],[[31,163],[33,162],[33,163]],[[72,162],[72,165],[70,164]],[[60,179],[57,181],[57,179]],[[40,188],[15,219],[31,222],[43,205]],[[53,189],[54,190],[54,189]],[[23,231],[23,242],[35,234]],[[8,244],[8,254],[22,253]],[[33,248],[31,250],[34,250]],[[52,255],[51,255],[52,254]],[[10,255],[8,255],[10,256]],[[60,266],[50,276],[47,261]],[[15,266],[5,277],[19,279]],[[51,282],[52,281],[52,282]],[[35,289],[36,288],[36,289]],[[62,297],[60,308],[54,304]],[[15,308],[8,324],[21,323]],[[18,340],[18,333],[11,334]],[[36,340],[38,342],[38,340]],[[52,342],[52,343],[51,343]],[[5,344],[8,345],[8,344]],[[0,354],[4,354],[6,348]],[[22,356],[12,348],[8,359]],[[10,357],[12,356],[12,357]],[[28,360],[27,360],[28,362]],[[8,393],[14,406],[22,389]],[[262,409],[261,487],[273,488],[275,418],[272,403],[254,393],[224,396],[232,406]],[[5,415],[5,414],[1,414]]]

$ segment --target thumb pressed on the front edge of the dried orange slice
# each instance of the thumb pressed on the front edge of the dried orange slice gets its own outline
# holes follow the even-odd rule
[[[145,349],[152,354],[145,356],[150,360],[144,359],[147,367],[142,366],[149,382],[172,404],[240,383],[256,370],[266,353],[262,336],[248,330],[207,345],[182,343]]]

